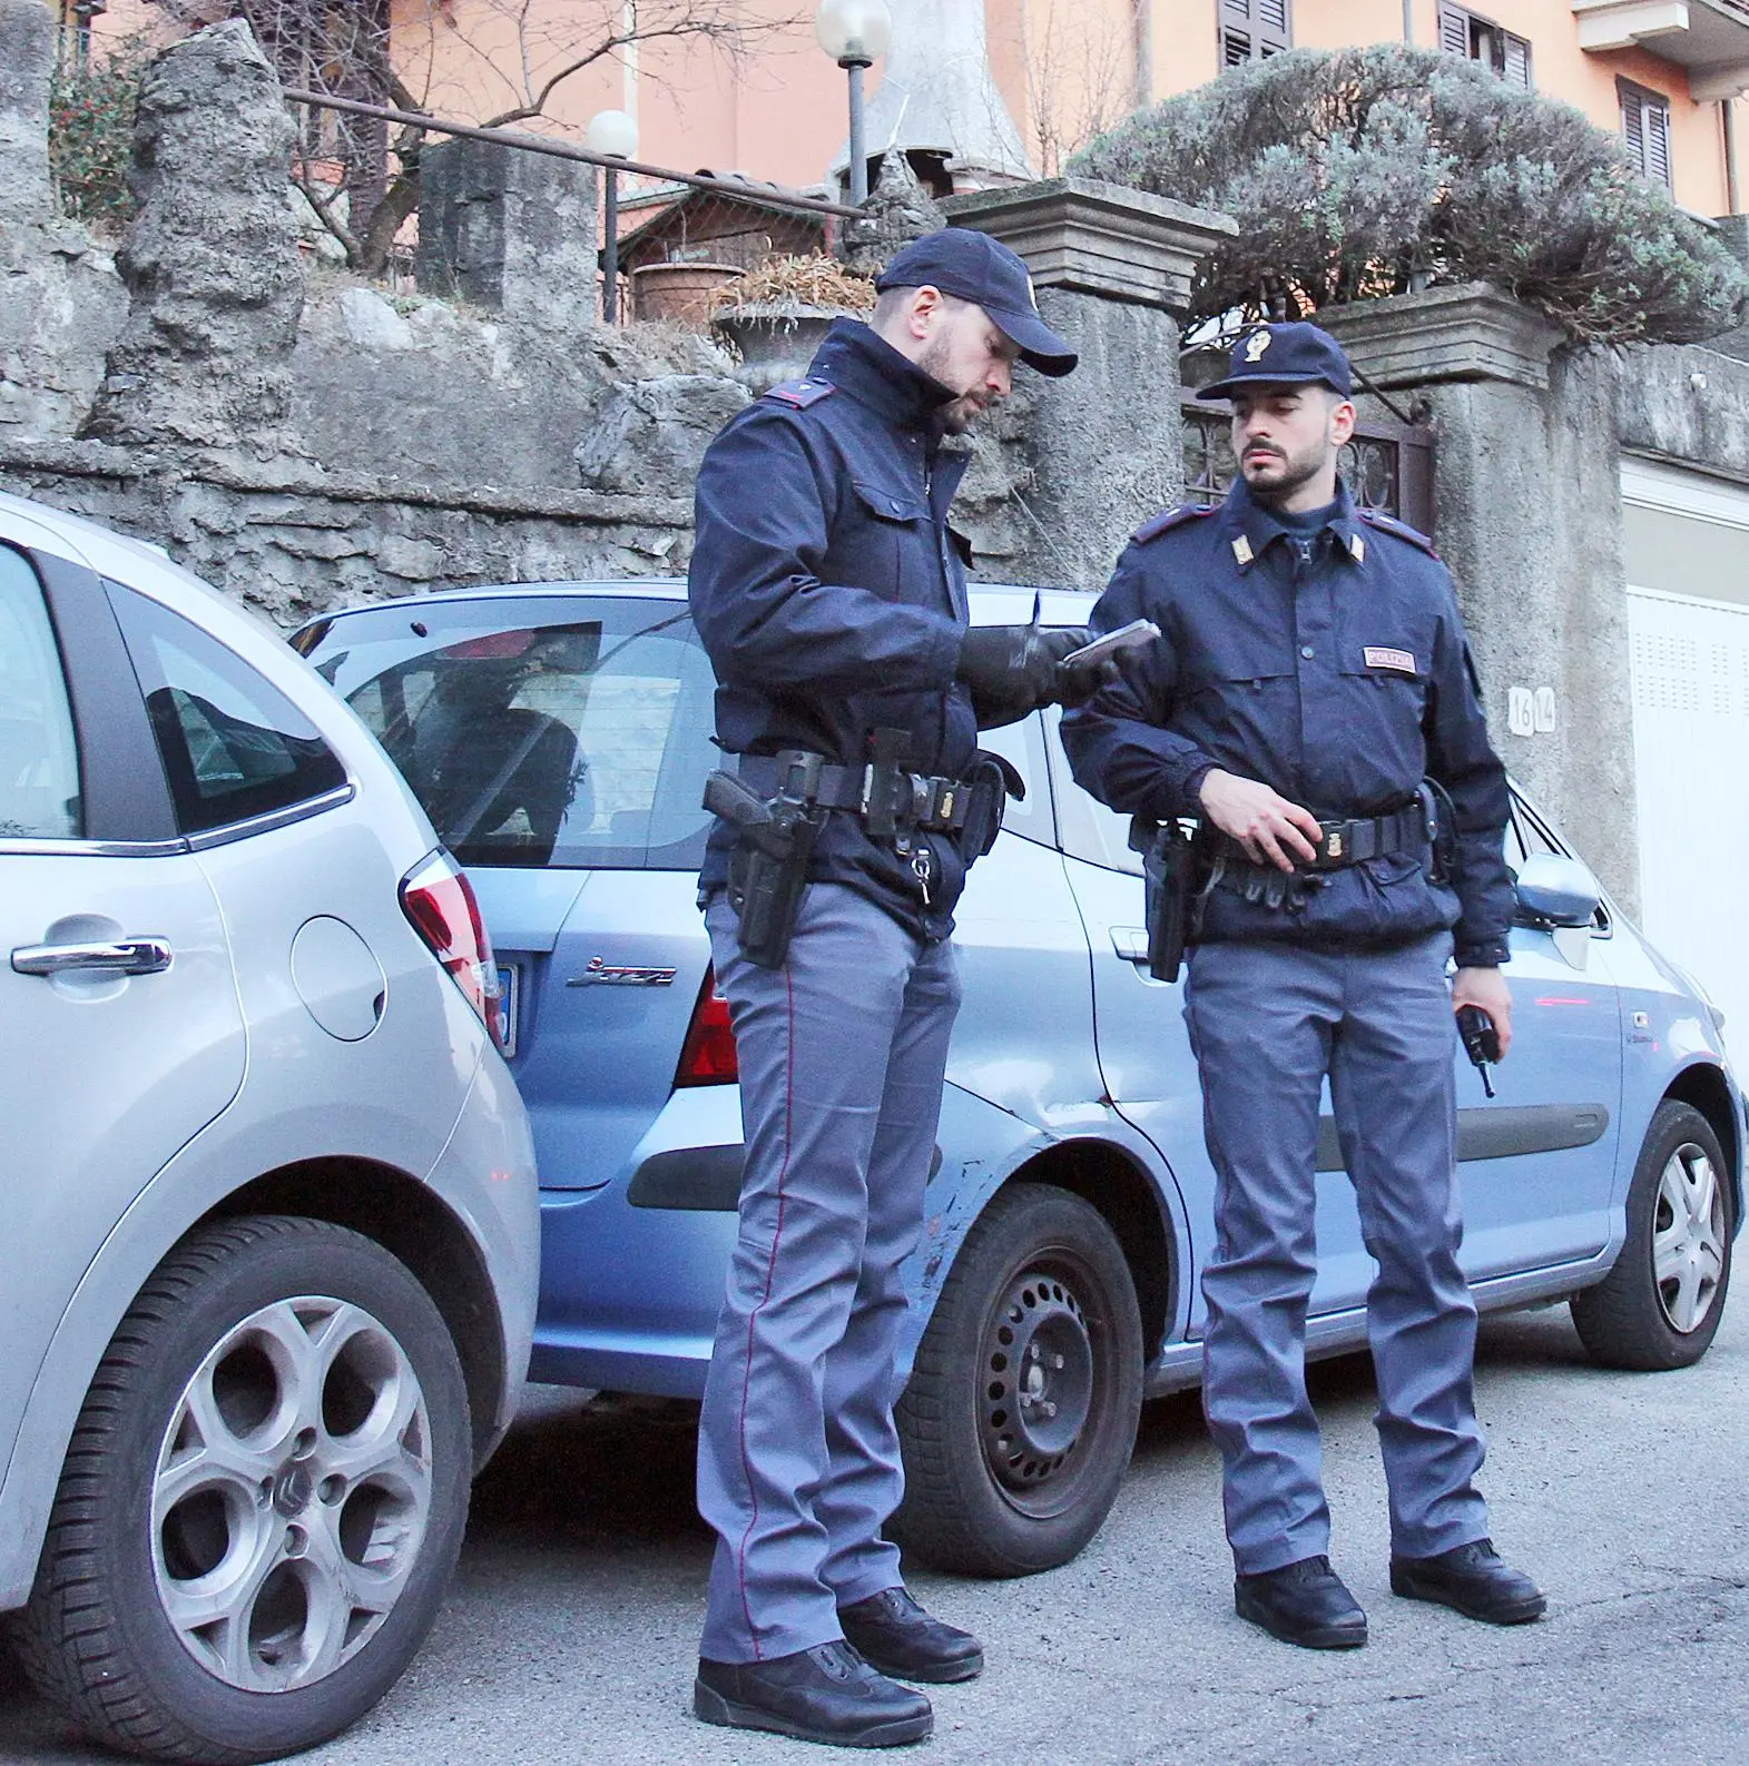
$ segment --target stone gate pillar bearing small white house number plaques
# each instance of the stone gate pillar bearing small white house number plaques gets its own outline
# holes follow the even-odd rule
[[[1495,745],[1636,909],[1634,706],[1615,371],[1484,284],[1325,311],[1387,392],[1427,399],[1440,553]]]

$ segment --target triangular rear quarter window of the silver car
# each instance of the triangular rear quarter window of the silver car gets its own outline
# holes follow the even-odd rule
[[[346,782],[316,726],[242,657],[168,608],[106,586],[184,834],[295,809]]]

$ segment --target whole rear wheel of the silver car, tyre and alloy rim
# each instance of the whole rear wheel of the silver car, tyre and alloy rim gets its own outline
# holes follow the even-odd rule
[[[367,1711],[461,1543],[468,1399],[380,1245],[256,1215],[186,1240],[110,1344],[14,1641],[97,1738],[212,1766]]]

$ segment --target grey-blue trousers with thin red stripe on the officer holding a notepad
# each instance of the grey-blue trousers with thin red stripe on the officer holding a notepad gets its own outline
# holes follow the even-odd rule
[[[837,1607],[901,1582],[882,1538],[905,1491],[894,1353],[959,1008],[954,952],[811,883],[761,970],[705,915],[740,1060],[740,1233],[698,1438],[717,1531],[700,1653],[760,1662],[843,1635]]]

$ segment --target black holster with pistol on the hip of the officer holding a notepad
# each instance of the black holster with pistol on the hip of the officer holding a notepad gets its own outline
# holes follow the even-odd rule
[[[705,781],[705,809],[737,834],[730,853],[728,899],[738,922],[742,955],[761,970],[781,970],[807,888],[807,860],[827,812],[814,802],[822,758],[802,749],[777,756],[779,786],[770,800],[733,774]]]

